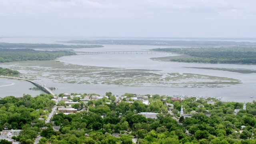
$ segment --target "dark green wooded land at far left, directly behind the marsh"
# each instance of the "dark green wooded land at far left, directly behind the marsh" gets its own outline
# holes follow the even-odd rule
[[[26,60],[54,60],[61,56],[75,55],[66,51],[39,51],[32,49],[0,48],[0,63]]]

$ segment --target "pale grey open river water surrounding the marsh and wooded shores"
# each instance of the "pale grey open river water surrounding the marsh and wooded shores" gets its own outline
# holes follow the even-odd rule
[[[0,39],[0,42],[28,42],[28,43],[55,43],[57,40],[66,39],[43,39],[38,38],[33,41],[32,38]],[[104,51],[144,51],[151,48],[163,48],[162,46],[134,46],[134,45],[104,45],[103,48],[83,48],[76,49],[84,52],[104,52]],[[221,70],[204,70],[184,67],[209,67],[209,68],[241,68],[256,70],[256,65],[238,65],[238,64],[198,64],[198,63],[179,63],[179,62],[160,62],[153,61],[149,58],[171,56],[168,54],[154,55],[154,54],[92,54],[92,55],[76,55],[64,56],[57,60],[68,64],[78,64],[83,66],[100,66],[112,68],[125,69],[146,69],[146,70],[161,70],[160,72],[168,73],[193,73],[204,74],[210,76],[220,76],[235,78],[242,81],[242,84],[232,85],[230,87],[222,88],[178,88],[178,87],[146,87],[146,86],[118,86],[106,84],[68,84],[62,82],[52,82],[50,79],[38,79],[37,82],[45,83],[47,86],[54,86],[58,88],[54,93],[98,93],[105,94],[111,91],[113,94],[135,93],[135,94],[160,94],[172,96],[174,94],[183,95],[201,95],[222,97],[222,100],[237,101],[237,102],[251,102],[256,100],[256,74],[240,74],[236,72],[227,72]],[[1,64],[0,64],[1,66]],[[21,80],[0,79],[1,97],[13,95],[22,96],[22,94],[36,95],[43,93],[40,91],[28,90],[34,87],[29,82]],[[254,96],[254,98],[250,98]]]

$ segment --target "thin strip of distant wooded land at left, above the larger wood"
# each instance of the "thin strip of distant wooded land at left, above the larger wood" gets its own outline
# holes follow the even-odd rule
[[[25,44],[0,42],[0,48],[100,48],[101,45]]]

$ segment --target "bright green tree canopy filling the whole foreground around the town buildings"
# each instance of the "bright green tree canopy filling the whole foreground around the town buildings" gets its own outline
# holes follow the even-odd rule
[[[82,98],[92,96],[80,95]],[[30,95],[8,96],[0,99],[0,130],[22,129],[21,135],[13,139],[23,144],[33,144],[38,132],[43,136],[39,144],[132,144],[132,138],[137,138],[140,144],[256,143],[256,102],[247,103],[246,110],[234,115],[234,109],[242,109],[242,103],[223,103],[214,98],[185,98],[173,102],[171,97],[156,94],[146,95],[150,101],[146,105],[140,101],[125,102],[125,99],[116,103],[112,93],[106,95],[108,97],[90,100],[87,104],[74,97],[73,100],[80,102],[84,110],[68,115],[57,112],[48,124],[38,118],[46,119],[55,105],[51,95],[41,94],[34,98]],[[132,97],[132,94],[126,95]],[[214,100],[215,104],[207,104],[208,100]],[[167,102],[173,107],[166,106]],[[58,105],[65,106],[62,101]],[[191,118],[180,116],[181,106],[184,113],[192,114]],[[153,119],[139,112],[159,114]],[[204,112],[210,112],[210,116]],[[47,128],[41,130],[44,126]],[[60,126],[60,130],[54,131],[52,126]],[[118,133],[119,137],[112,136],[112,133]]]

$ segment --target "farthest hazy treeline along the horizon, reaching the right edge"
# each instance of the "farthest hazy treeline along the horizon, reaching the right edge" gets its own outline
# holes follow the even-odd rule
[[[255,42],[232,42],[210,40],[69,40],[75,44],[132,44],[132,45],[182,45],[182,46],[256,46]]]

